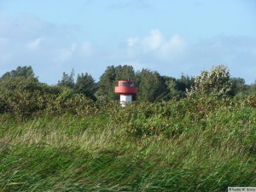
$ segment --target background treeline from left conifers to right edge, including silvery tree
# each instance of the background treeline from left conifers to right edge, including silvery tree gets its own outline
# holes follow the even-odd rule
[[[160,102],[184,98],[188,96],[188,90],[195,88],[195,84],[199,84],[199,78],[206,83],[204,86],[208,89],[217,86],[221,89],[220,87],[225,84],[228,86],[226,89],[229,89],[227,96],[252,94],[256,86],[256,80],[254,84],[247,85],[244,79],[231,78],[228,68],[222,65],[212,67],[209,72],[202,71],[197,78],[182,74],[179,79],[175,79],[162,76],[147,68],[135,72],[133,67],[128,65],[107,67],[97,83],[89,73],[78,74],[76,81],[74,77],[73,70],[70,74],[63,73],[57,85],[71,88],[76,93],[83,94],[94,101],[108,102],[119,100],[119,95],[113,92],[119,80],[135,81],[139,91],[134,99],[138,102]]]

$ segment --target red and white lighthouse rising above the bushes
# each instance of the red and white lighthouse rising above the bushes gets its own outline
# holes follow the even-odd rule
[[[137,87],[133,81],[120,80],[119,85],[114,87],[114,92],[120,94],[120,104],[125,107],[126,102],[132,101],[132,94],[137,93]]]

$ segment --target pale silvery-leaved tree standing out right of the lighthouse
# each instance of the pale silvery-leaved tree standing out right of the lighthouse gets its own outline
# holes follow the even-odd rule
[[[218,97],[231,96],[232,87],[230,83],[230,73],[226,66],[218,65],[207,71],[202,71],[201,75],[195,78],[195,85],[187,90],[187,96],[212,95]]]

